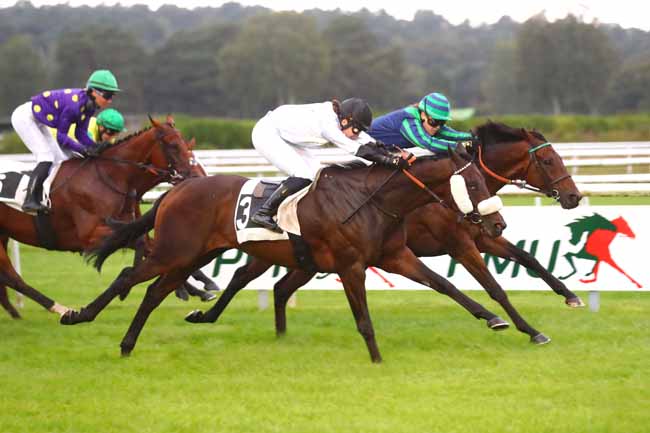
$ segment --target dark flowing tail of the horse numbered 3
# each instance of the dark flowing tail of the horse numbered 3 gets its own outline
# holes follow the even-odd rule
[[[102,270],[104,261],[115,251],[126,248],[140,236],[153,229],[156,222],[158,206],[167,193],[163,194],[156,200],[153,207],[144,213],[140,218],[130,223],[121,221],[108,221],[108,225],[113,229],[113,233],[102,239],[102,242],[95,248],[84,252],[86,261],[92,263],[97,271]]]

